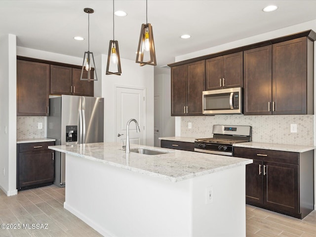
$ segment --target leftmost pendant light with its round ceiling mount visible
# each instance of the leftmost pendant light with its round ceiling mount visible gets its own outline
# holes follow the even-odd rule
[[[89,32],[89,28],[90,28],[90,19],[89,16],[91,13],[94,12],[94,10],[92,8],[84,8],[83,11],[85,13],[88,13],[88,51],[84,52],[83,55],[83,63],[82,63],[82,69],[81,69],[81,76],[80,76],[80,80],[98,80],[97,77],[97,72],[95,70],[95,64],[94,64],[94,57],[93,57],[93,53],[90,52],[90,32]],[[93,65],[91,65],[91,59],[92,59],[92,63]],[[91,69],[92,67],[94,68],[94,73],[95,73],[95,79],[91,79]],[[83,70],[87,71],[87,77],[83,76]],[[93,72],[92,72],[93,73]]]

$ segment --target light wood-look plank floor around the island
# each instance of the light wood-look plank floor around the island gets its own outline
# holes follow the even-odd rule
[[[6,197],[0,190],[0,237],[100,237],[96,231],[63,208],[65,189],[51,185]],[[87,203],[88,204],[88,203]],[[246,206],[247,237],[316,237],[316,211],[299,220],[254,206]],[[22,224],[48,224],[45,229],[22,229]]]

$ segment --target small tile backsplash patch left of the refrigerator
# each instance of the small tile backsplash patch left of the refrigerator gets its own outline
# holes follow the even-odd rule
[[[38,129],[39,122],[43,125],[42,129]],[[43,138],[45,135],[44,124],[44,116],[17,116],[16,139]]]

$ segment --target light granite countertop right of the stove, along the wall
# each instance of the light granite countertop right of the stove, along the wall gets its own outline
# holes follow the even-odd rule
[[[287,144],[276,144],[276,143],[263,143],[263,142],[243,142],[236,143],[234,147],[246,147],[254,149],[266,149],[266,150],[275,150],[283,152],[308,152],[316,149],[313,146],[299,146],[299,145],[287,145]]]

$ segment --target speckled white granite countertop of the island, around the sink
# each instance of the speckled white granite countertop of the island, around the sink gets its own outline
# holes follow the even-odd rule
[[[210,155],[197,152],[155,148],[131,144],[130,148],[146,148],[166,152],[161,155],[126,154],[120,143],[89,143],[73,146],[49,146],[69,155],[113,165],[138,173],[178,182],[236,166],[252,163],[252,159]]]

